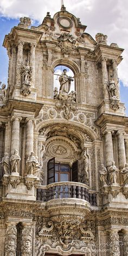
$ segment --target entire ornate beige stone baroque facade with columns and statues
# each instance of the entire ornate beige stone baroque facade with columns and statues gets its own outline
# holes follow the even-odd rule
[[[61,11],[5,36],[0,89],[0,255],[128,255],[123,49]],[[54,69],[65,66],[54,86]],[[68,69],[74,76],[68,76]],[[74,82],[74,90],[72,84]]]

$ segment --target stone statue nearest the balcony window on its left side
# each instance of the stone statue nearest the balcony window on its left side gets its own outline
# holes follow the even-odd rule
[[[34,152],[31,152],[26,161],[27,174],[39,177],[41,165],[38,162],[38,158],[34,156]]]

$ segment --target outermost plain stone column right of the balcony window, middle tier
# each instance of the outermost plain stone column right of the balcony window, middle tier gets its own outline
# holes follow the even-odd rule
[[[125,144],[124,144],[124,134],[123,132],[117,132],[118,137],[118,159],[119,159],[119,169],[123,169],[126,163],[125,156]]]

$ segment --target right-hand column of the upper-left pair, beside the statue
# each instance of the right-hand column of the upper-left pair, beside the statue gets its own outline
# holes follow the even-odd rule
[[[31,86],[35,87],[35,48],[36,44],[31,43],[30,44],[30,67],[32,68],[32,74],[31,74]]]

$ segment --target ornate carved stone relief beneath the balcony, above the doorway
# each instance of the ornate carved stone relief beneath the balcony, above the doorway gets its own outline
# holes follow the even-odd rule
[[[94,234],[86,223],[72,218],[67,219],[62,216],[63,220],[50,220],[43,227],[40,227],[36,241],[36,255],[41,251],[58,252],[67,255],[68,252],[88,252],[91,248],[91,241],[94,246]],[[76,246],[77,244],[77,246]],[[91,251],[90,249],[90,251]],[[90,254],[86,254],[90,255]],[[92,254],[91,254],[92,255]]]

